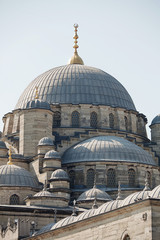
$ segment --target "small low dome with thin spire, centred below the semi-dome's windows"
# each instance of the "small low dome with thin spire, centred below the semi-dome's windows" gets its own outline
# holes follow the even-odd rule
[[[95,199],[97,200],[102,200],[102,201],[111,201],[112,198],[104,191],[93,187],[92,189],[89,189],[87,191],[85,191],[84,193],[82,193],[78,199],[77,199],[77,203],[81,202],[81,201],[93,201]]]

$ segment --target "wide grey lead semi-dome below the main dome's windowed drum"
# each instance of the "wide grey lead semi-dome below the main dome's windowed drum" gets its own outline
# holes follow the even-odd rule
[[[69,148],[62,163],[129,162],[156,165],[151,154],[136,144],[116,136],[98,136]]]

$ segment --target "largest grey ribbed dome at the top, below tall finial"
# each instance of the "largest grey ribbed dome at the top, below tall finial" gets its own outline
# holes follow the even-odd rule
[[[97,68],[69,64],[53,68],[33,80],[15,109],[26,108],[35,97],[53,104],[96,104],[136,110],[126,89],[114,77]]]

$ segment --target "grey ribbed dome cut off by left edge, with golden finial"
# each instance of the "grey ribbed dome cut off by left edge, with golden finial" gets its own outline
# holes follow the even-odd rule
[[[16,165],[0,166],[0,186],[39,188],[37,179],[30,172]]]

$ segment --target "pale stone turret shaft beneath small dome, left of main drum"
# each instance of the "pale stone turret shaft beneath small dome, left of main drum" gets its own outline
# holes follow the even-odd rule
[[[19,153],[24,156],[37,154],[41,138],[52,138],[52,111],[46,109],[27,109],[20,114]]]

